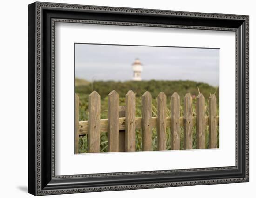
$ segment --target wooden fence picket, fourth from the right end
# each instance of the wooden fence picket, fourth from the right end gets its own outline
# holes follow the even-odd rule
[[[171,150],[180,149],[180,96],[171,96]]]

